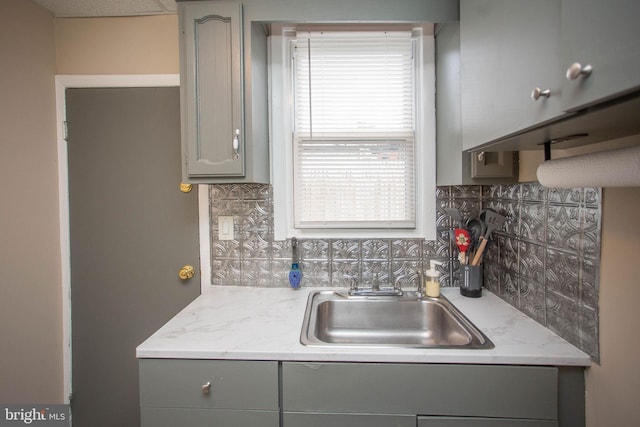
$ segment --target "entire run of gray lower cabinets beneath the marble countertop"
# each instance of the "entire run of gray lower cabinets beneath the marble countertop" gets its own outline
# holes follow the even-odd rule
[[[141,427],[584,427],[583,369],[141,359]]]

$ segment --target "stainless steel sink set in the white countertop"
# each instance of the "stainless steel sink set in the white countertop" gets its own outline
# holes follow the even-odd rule
[[[300,341],[310,346],[488,349],[493,343],[444,297],[309,295]]]

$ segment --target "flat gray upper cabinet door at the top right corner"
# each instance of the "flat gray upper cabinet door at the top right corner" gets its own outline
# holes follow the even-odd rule
[[[565,110],[640,89],[638,17],[638,0],[562,0],[564,70],[592,69],[579,74],[576,65],[575,78],[565,78]]]

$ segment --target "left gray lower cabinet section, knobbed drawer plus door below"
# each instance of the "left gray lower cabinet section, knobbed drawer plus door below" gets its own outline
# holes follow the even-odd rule
[[[278,427],[278,362],[141,359],[142,427]]]

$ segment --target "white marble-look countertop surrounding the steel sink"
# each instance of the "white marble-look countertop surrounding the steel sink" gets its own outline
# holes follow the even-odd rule
[[[323,288],[326,289],[326,288]],[[492,293],[445,295],[495,344],[491,350],[308,347],[300,331],[316,288],[214,287],[136,350],[138,358],[589,366],[587,354]]]

